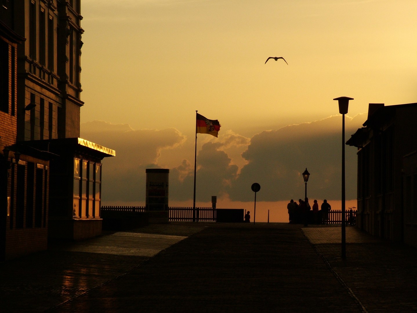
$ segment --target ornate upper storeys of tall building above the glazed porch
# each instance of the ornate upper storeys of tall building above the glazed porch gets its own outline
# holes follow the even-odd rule
[[[14,2],[18,46],[17,139],[80,136],[80,1]],[[24,113],[24,114],[23,114]]]

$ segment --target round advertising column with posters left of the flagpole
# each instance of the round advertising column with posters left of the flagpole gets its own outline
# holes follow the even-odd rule
[[[149,223],[168,223],[169,169],[146,169],[146,212]]]

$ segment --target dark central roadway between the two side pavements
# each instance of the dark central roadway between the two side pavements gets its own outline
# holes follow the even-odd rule
[[[128,275],[51,310],[87,311],[361,312],[361,308],[297,225],[212,223]]]

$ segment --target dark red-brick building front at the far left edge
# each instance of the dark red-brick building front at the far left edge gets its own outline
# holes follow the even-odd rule
[[[46,249],[51,153],[17,143],[18,48],[13,2],[0,8],[0,260]]]

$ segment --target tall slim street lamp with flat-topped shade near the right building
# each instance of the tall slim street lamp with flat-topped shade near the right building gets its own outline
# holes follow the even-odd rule
[[[346,258],[346,208],[345,208],[345,176],[344,176],[344,115],[347,114],[349,100],[353,98],[334,98],[339,102],[339,113],[342,114],[342,258]]]

